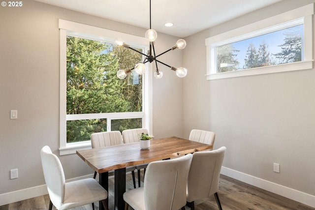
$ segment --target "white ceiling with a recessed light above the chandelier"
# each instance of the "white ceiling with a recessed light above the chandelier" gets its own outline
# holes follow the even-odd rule
[[[150,0],[36,0],[150,28]],[[152,29],[186,37],[281,0],[152,0]],[[165,27],[171,22],[173,27]]]

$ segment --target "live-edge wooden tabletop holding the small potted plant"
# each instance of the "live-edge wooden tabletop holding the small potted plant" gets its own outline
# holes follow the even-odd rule
[[[97,173],[162,160],[195,151],[212,149],[211,145],[178,137],[150,140],[150,148],[141,150],[140,143],[128,143],[97,149],[77,150],[77,154]]]

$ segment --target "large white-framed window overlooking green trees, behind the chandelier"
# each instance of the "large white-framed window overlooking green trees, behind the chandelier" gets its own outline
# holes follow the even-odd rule
[[[60,36],[60,154],[90,148],[94,132],[150,130],[150,73],[118,79],[117,70],[133,67],[142,58],[113,44],[123,38],[144,51],[146,39],[64,20]]]

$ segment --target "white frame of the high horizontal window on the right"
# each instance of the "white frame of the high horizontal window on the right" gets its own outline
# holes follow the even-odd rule
[[[312,69],[313,14],[314,3],[207,38],[207,80]],[[218,46],[282,30],[290,26],[296,26],[299,23],[304,24],[304,48],[302,48],[304,59],[302,61],[217,73],[216,48]]]

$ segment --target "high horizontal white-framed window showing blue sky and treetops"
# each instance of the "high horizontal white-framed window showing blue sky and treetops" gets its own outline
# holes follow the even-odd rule
[[[313,13],[310,4],[207,38],[207,79],[313,68]]]

